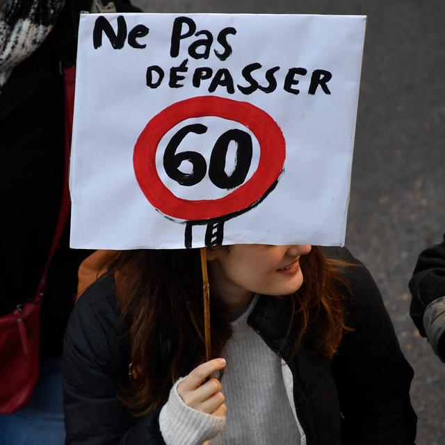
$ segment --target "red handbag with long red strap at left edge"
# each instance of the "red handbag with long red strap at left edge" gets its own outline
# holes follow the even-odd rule
[[[74,106],[75,69],[64,71],[65,80],[65,180],[62,204],[47,263],[33,298],[0,317],[0,414],[8,414],[26,405],[40,375],[40,307],[47,283],[49,264],[56,251],[70,211],[68,167]]]

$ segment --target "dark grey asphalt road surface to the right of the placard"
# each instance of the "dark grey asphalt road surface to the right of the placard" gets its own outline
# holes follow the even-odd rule
[[[417,444],[445,444],[445,364],[408,315],[419,252],[445,232],[445,1],[133,0],[146,12],[367,15],[346,246],[414,368]]]

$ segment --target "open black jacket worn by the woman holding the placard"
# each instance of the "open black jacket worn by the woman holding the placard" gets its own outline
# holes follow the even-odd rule
[[[330,249],[358,264],[345,249]],[[345,297],[348,326],[332,359],[311,354],[310,335],[296,357],[280,346],[289,302],[261,297],[248,318],[293,373],[293,395],[307,445],[412,445],[416,415],[410,404],[407,364],[380,293],[364,266],[346,271],[353,296]],[[67,444],[164,444],[159,411],[133,421],[115,394],[128,376],[113,279],[99,280],[77,303],[63,357]]]

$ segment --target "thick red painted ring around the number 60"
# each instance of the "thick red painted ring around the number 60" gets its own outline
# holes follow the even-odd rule
[[[259,142],[259,163],[254,175],[232,193],[216,200],[184,200],[175,196],[156,171],[156,149],[172,127],[189,118],[216,116],[243,124]],[[248,102],[218,96],[200,96],[176,102],[154,116],[136,141],[133,167],[147,200],[172,218],[186,221],[219,218],[242,211],[263,197],[283,170],[286,142],[277,122]]]

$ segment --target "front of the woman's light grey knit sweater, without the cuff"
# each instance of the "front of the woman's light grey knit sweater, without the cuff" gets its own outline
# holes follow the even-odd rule
[[[223,350],[227,366],[221,385],[227,419],[223,432],[211,440],[211,445],[300,443],[284,387],[282,360],[247,324],[257,299],[255,296],[245,313],[232,323],[234,333]]]

